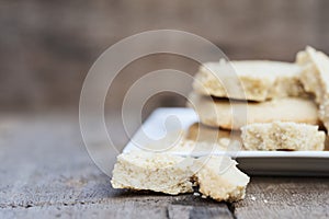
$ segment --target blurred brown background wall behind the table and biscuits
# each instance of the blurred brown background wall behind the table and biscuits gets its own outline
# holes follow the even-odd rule
[[[293,61],[306,45],[329,53],[328,11],[326,0],[1,0],[0,111],[78,110],[98,56],[143,31],[188,31],[230,59]],[[166,55],[135,61],[111,88],[117,95],[110,108],[135,79],[168,67],[193,74],[197,65]],[[184,104],[171,95],[159,95],[152,107]]]

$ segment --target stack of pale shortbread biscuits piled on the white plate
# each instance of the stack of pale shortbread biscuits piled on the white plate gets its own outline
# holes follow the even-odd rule
[[[190,127],[190,139],[219,131],[220,142],[223,132],[235,130],[246,150],[324,150],[319,126],[329,128],[329,58],[307,47],[294,64],[207,62],[189,101],[201,123]]]

